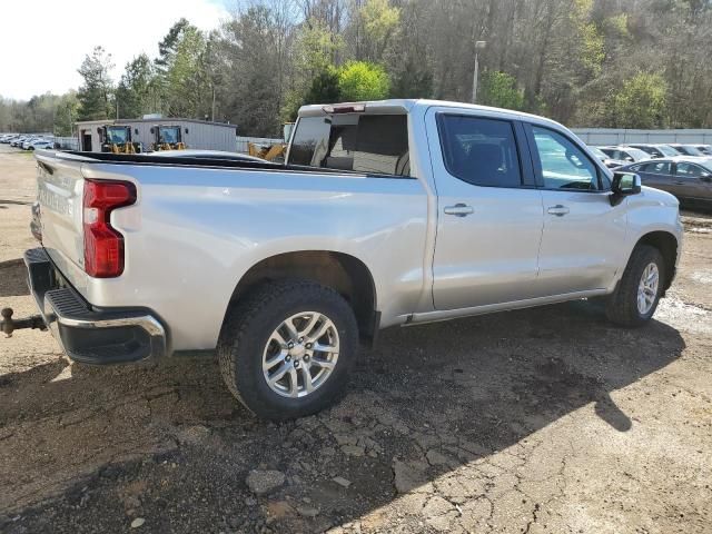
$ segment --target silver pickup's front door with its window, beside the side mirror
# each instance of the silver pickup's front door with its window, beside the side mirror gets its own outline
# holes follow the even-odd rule
[[[526,129],[544,205],[538,287],[551,296],[607,288],[624,264],[626,202],[611,206],[607,175],[573,139]]]

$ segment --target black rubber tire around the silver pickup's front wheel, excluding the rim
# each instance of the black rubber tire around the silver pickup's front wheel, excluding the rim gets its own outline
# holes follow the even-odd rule
[[[652,307],[645,314],[641,314],[637,308],[637,287],[643,275],[643,270],[654,263],[657,266],[659,283],[657,293]],[[626,327],[639,327],[647,323],[657,308],[657,303],[663,291],[665,274],[665,261],[662,254],[650,245],[639,245],[633,249],[631,258],[625,266],[623,276],[619,281],[615,291],[609,296],[605,314],[609,320],[616,325]]]

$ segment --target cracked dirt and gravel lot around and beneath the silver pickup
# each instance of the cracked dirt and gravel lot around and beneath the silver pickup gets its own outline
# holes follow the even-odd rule
[[[32,178],[0,146],[17,315]],[[296,423],[251,418],[210,359],[86,367],[19,332],[0,340],[0,531],[711,532],[712,224],[688,222],[649,326],[575,303],[392,329],[344,402]]]

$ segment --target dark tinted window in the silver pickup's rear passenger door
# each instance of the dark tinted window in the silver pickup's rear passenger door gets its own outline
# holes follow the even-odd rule
[[[438,127],[445,167],[451,175],[475,186],[522,185],[512,122],[441,115]]]

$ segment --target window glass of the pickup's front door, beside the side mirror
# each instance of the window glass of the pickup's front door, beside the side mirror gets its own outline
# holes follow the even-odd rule
[[[597,167],[576,145],[548,128],[532,126],[532,134],[546,189],[600,189]]]

